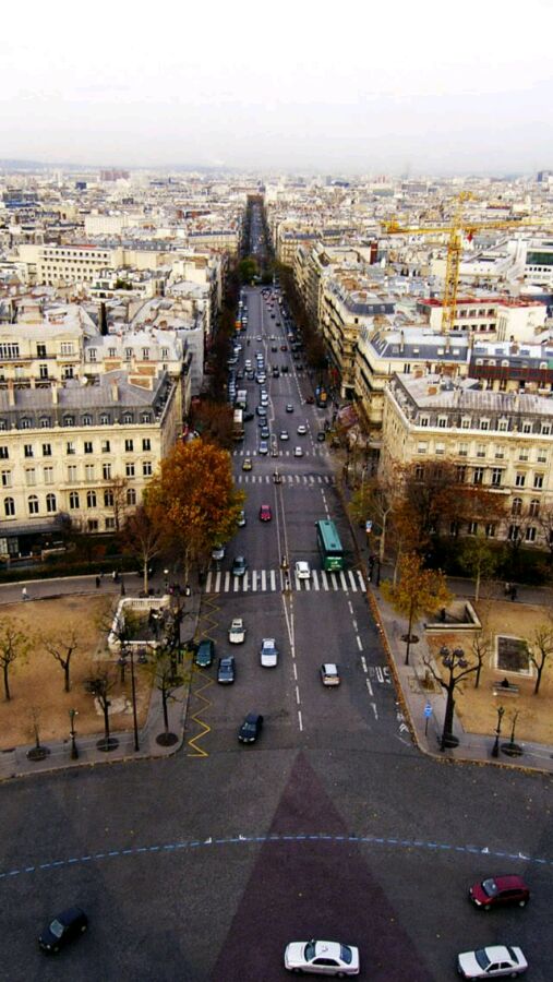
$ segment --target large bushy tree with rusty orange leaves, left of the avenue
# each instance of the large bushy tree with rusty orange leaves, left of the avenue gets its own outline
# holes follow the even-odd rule
[[[216,542],[236,531],[244,494],[235,488],[230,455],[212,443],[178,443],[148,484],[146,504],[163,539],[182,558],[188,579]]]

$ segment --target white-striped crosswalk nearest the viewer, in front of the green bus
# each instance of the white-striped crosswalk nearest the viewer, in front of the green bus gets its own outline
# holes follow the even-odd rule
[[[263,594],[280,590],[363,592],[366,585],[359,570],[326,573],[312,570],[310,579],[298,579],[293,571],[249,570],[244,576],[232,576],[230,570],[209,570],[205,580],[206,594]]]

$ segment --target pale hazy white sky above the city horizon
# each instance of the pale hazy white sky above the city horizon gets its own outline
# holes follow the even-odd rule
[[[553,0],[67,0],[2,13],[0,158],[553,167]]]

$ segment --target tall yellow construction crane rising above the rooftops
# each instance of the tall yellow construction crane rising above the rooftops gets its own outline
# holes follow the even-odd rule
[[[455,314],[457,310],[457,287],[459,283],[459,267],[462,252],[462,237],[466,236],[469,241],[473,235],[479,231],[494,228],[525,228],[528,226],[549,225],[553,223],[542,223],[532,219],[503,219],[498,221],[472,221],[462,217],[462,205],[466,201],[473,197],[470,191],[464,191],[459,194],[456,203],[455,213],[450,225],[425,226],[422,228],[410,228],[401,226],[397,221],[385,221],[383,227],[389,236],[412,235],[412,236],[431,236],[447,235],[447,262],[445,268],[445,286],[442,308],[442,332],[449,334],[455,323]]]

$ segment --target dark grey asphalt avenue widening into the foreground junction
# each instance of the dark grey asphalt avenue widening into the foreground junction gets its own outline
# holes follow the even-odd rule
[[[294,422],[301,407],[317,426],[296,378],[274,383],[277,424],[292,400]],[[273,465],[256,458],[253,474]],[[300,481],[244,483],[248,524],[226,567],[243,551],[251,570],[268,572],[284,549],[315,564],[313,522],[326,510],[346,537],[333,484],[302,480],[330,474],[328,456],[280,466]],[[262,501],[274,507],[263,526]],[[506,942],[521,945],[528,978],[550,980],[551,780],[421,756],[360,590],[211,594],[202,628],[218,655],[237,614],[248,626],[233,647],[237,682],[217,685],[215,668],[197,673],[187,738],[205,732],[194,745],[167,761],[0,786],[0,979],[273,982],[288,978],[286,943],[315,936],[358,944],[362,979],[443,982],[456,975],[456,953]],[[264,635],[277,640],[276,669],[260,664]],[[322,686],[323,660],[340,663],[339,688]],[[243,747],[237,729],[252,709],[265,730]],[[508,871],[529,881],[528,907],[473,909],[470,884]],[[75,902],[88,933],[45,958],[40,926]]]

